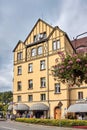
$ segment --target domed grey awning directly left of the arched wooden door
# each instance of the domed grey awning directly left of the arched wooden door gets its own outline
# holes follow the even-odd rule
[[[37,104],[33,104],[31,107],[30,107],[30,110],[48,110],[49,107],[43,103],[37,103]]]

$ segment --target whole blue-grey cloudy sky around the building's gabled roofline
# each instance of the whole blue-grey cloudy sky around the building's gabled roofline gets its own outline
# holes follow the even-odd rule
[[[87,0],[0,0],[0,92],[13,90],[12,51],[39,18],[73,40],[87,32]]]

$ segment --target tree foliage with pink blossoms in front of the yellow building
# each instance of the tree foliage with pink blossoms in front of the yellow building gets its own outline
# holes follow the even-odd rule
[[[70,86],[87,83],[87,53],[65,55],[61,51],[58,55],[60,60],[56,59],[56,65],[51,70],[54,79]]]

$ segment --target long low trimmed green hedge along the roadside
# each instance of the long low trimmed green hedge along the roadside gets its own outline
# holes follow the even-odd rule
[[[61,127],[72,127],[72,126],[87,126],[86,120],[69,120],[69,119],[36,119],[36,118],[16,118],[17,122],[40,124],[40,125],[51,125]]]

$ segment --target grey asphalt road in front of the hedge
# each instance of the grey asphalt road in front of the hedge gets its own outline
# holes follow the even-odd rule
[[[54,126],[32,125],[15,121],[0,121],[0,130],[77,130],[75,128],[63,128]],[[83,130],[83,129],[78,129]]]

